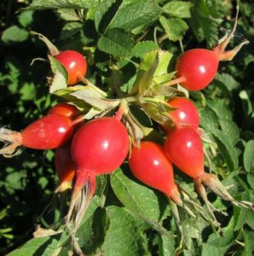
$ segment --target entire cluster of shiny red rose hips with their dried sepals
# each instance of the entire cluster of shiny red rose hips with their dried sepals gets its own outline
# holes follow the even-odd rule
[[[234,29],[235,30],[235,29]],[[219,61],[230,60],[246,41],[235,49],[225,51],[230,38],[222,40],[215,49],[191,49],[182,54],[176,62],[176,79],[168,85],[181,84],[188,90],[204,89],[216,76]],[[68,73],[68,85],[84,79],[87,62],[83,55],[74,50],[61,51],[55,55]],[[85,86],[85,85],[84,85]],[[172,164],[193,178],[199,195],[213,215],[211,203],[207,200],[203,183],[222,199],[242,207],[251,203],[235,201],[214,174],[205,173],[205,157],[199,137],[199,113],[193,102],[185,97],[168,100],[172,108],[169,123],[161,126],[166,133],[164,147],[155,142],[131,143],[131,137],[121,121],[124,109],[111,117],[102,117],[84,122],[83,113],[70,102],[61,102],[42,118],[28,125],[23,131],[0,130],[0,140],[7,145],[0,154],[14,154],[15,148],[54,149],[55,169],[59,176],[56,192],[72,188],[72,199],[67,222],[82,216],[84,207],[81,199],[89,201],[95,194],[95,177],[114,172],[126,160],[130,152],[130,171],[142,183],[162,191],[176,205],[184,207],[189,200],[176,185]],[[84,189],[86,197],[84,198]],[[78,206],[80,209],[78,209]],[[77,210],[78,209],[78,210]],[[75,222],[77,230],[80,219]]]

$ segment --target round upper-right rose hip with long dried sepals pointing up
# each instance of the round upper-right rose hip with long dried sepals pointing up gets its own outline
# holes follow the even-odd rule
[[[234,49],[226,51],[229,41],[234,37],[238,13],[239,6],[232,31],[214,49],[190,49],[180,56],[176,62],[177,79],[170,81],[168,85],[179,83],[188,90],[204,89],[215,78],[219,61],[231,61],[244,44],[249,44],[249,41],[244,40]]]

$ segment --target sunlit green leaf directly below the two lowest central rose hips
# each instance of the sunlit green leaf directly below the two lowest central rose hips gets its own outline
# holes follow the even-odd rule
[[[166,207],[166,201],[163,198],[158,200],[158,195],[153,189],[130,179],[120,169],[110,176],[110,183],[124,207],[141,218],[159,222],[163,214],[160,209]]]

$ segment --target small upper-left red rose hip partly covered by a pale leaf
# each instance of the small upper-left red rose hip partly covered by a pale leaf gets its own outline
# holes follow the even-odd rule
[[[87,61],[84,55],[76,50],[63,50],[55,55],[55,59],[60,61],[68,73],[68,85],[77,84],[84,78],[87,70]]]

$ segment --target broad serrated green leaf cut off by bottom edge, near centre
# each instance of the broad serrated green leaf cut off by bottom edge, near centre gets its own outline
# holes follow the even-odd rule
[[[147,243],[136,219],[124,208],[111,206],[106,210],[109,228],[102,246],[103,255],[147,255]]]

